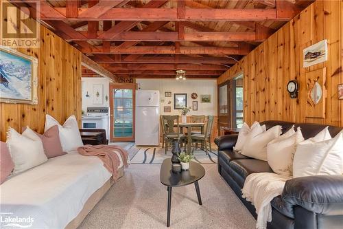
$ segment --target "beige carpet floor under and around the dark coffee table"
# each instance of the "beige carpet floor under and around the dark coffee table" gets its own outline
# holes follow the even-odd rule
[[[131,164],[79,228],[167,228],[167,188],[160,182],[160,166]],[[202,206],[193,185],[173,188],[170,228],[255,228],[255,219],[217,173],[217,164],[202,166]]]

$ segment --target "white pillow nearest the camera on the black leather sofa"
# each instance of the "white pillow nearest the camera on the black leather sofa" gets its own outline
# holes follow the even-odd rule
[[[298,144],[293,162],[294,177],[342,175],[343,131],[321,142],[315,142],[316,137]]]

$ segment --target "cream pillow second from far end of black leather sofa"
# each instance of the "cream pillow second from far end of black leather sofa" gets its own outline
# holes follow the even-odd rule
[[[268,131],[263,131],[260,125],[256,125],[248,133],[241,154],[267,161],[267,145],[275,138],[278,138],[281,131],[281,126],[274,126],[268,129]]]

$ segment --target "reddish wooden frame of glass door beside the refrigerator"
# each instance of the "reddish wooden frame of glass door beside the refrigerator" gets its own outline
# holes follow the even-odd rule
[[[114,98],[113,98],[113,89],[132,89],[132,137],[127,138],[113,138],[114,131]],[[110,83],[110,142],[121,141],[121,142],[134,142],[134,131],[135,131],[135,119],[136,119],[136,89],[137,83]]]

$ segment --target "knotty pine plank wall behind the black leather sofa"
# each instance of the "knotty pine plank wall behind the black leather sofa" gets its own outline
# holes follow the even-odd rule
[[[287,120],[315,122],[343,127],[343,100],[338,85],[343,83],[343,1],[317,0],[289,21],[268,40],[217,79],[217,83],[244,73],[244,120]],[[328,40],[328,61],[303,67],[303,48]],[[326,67],[327,100],[325,118],[306,118],[305,73]],[[291,99],[289,80],[300,85],[299,98]]]

